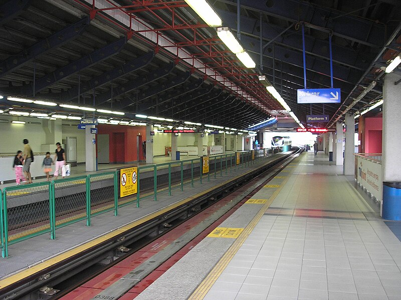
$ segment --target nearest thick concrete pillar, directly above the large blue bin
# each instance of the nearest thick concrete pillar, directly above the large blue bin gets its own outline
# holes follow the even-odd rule
[[[383,131],[381,171],[383,181],[401,181],[401,85],[394,85],[399,76],[389,73],[383,85]]]

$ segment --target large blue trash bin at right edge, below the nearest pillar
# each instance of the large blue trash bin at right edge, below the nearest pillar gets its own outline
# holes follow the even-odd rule
[[[383,211],[386,220],[401,220],[401,182],[383,181]]]

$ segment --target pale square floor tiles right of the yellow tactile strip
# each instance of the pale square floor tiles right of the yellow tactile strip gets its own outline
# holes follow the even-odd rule
[[[220,276],[190,298],[401,299],[401,242],[383,221],[366,219],[377,213],[341,171],[321,153],[288,165],[270,185],[279,189],[274,200]],[[253,198],[269,199],[268,190]]]

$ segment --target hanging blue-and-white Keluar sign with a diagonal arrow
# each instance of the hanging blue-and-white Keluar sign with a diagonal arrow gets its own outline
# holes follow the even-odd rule
[[[309,103],[340,103],[340,89],[303,89],[297,90],[297,102]]]

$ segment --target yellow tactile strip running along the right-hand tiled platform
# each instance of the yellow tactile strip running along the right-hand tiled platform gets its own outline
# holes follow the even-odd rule
[[[290,167],[290,166],[286,166]],[[220,261],[215,265],[212,271],[206,276],[206,278],[198,285],[195,291],[189,296],[188,300],[202,300],[208,291],[211,289],[213,284],[219,278],[219,276],[223,273],[224,269],[230,263],[231,259],[233,259],[234,255],[241,248],[242,244],[248,238],[249,234],[258,224],[259,220],[262,218],[263,214],[269,208],[270,204],[276,198],[278,193],[281,191],[283,186],[287,183],[290,177],[286,177],[281,185],[277,185],[277,190],[270,196],[270,198],[266,201],[266,203],[261,207],[256,216],[252,219],[252,221],[248,224],[248,226],[243,230],[240,236],[234,241],[231,247],[227,250],[227,252],[223,255]],[[265,185],[266,186],[266,185]],[[250,199],[251,200],[251,199]],[[248,200],[249,201],[249,200]]]

